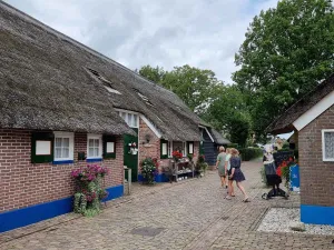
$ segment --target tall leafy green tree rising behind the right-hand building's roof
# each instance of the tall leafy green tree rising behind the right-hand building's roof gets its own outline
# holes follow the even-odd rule
[[[333,72],[332,11],[327,0],[282,0],[250,23],[233,80],[246,96],[257,136]]]

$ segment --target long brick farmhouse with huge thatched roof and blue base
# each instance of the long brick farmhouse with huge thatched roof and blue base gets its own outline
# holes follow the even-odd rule
[[[70,212],[78,167],[108,167],[110,200],[124,166],[198,157],[209,124],[175,93],[2,1],[0,23],[0,232]]]

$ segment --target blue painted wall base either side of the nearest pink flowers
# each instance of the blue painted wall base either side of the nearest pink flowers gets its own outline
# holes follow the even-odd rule
[[[112,200],[122,196],[122,184],[106,189],[109,194],[104,200]],[[72,211],[72,197],[35,204],[23,209],[16,209],[0,213],[0,233],[16,228],[32,224],[42,220],[61,216]]]

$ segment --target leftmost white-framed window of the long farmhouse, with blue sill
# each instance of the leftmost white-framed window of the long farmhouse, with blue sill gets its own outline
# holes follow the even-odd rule
[[[71,132],[53,132],[55,162],[73,161],[75,140]]]

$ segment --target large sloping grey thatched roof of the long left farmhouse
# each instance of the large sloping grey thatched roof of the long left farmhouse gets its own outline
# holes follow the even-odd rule
[[[208,126],[171,91],[1,1],[0,29],[0,127],[128,131],[114,108],[143,113],[169,140],[198,141]]]

